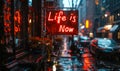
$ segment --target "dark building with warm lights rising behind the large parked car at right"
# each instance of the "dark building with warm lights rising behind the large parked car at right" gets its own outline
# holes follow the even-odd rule
[[[119,27],[120,27],[120,1],[119,0],[95,0],[95,18],[94,18],[94,30],[95,35],[100,37],[109,38],[109,33],[112,32],[111,38],[119,42]],[[105,30],[105,25],[112,25],[112,31]],[[118,25],[114,29],[114,25]],[[98,29],[99,28],[99,29]],[[114,29],[114,31],[113,31]],[[100,30],[100,31],[99,31]],[[116,32],[115,32],[116,31]],[[98,32],[101,34],[98,34]]]

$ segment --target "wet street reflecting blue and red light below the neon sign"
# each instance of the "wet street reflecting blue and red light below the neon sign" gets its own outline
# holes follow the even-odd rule
[[[80,47],[78,54],[71,55],[68,41],[64,38],[63,45],[52,57],[53,66],[48,71],[120,71],[119,65],[96,59],[88,48]]]

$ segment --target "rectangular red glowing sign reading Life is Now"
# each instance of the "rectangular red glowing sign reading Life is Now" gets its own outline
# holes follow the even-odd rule
[[[46,11],[46,29],[49,34],[74,35],[78,33],[78,11]]]

